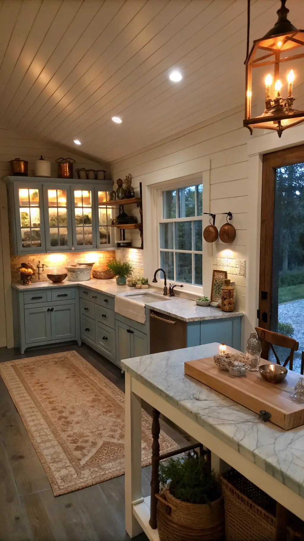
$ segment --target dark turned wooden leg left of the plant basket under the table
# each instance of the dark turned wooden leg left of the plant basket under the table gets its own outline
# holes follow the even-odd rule
[[[153,530],[157,529],[156,521],[156,506],[157,499],[155,494],[159,492],[159,411],[153,408],[152,410],[152,475],[151,475],[151,500],[150,500],[150,520],[149,524]]]

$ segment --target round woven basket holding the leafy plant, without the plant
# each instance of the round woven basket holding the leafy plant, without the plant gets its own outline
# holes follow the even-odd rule
[[[160,541],[215,541],[224,538],[222,496],[210,505],[181,502],[167,489],[156,497]]]

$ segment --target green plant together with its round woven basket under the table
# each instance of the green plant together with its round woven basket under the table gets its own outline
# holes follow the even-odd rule
[[[160,541],[219,540],[225,536],[224,503],[217,475],[197,453],[159,465],[164,490],[157,494]]]

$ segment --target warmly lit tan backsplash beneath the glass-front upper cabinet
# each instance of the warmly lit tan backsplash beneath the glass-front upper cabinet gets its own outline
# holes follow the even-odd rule
[[[65,254],[31,254],[31,255],[13,255],[11,256],[11,279],[12,283],[18,283],[20,281],[19,267],[21,263],[31,263],[36,267],[38,261],[45,263],[48,267],[64,267],[67,264],[75,263],[76,259],[85,258],[88,261],[95,261],[95,266],[104,266],[106,261],[115,257],[114,250],[100,251],[100,252],[69,252]],[[49,281],[46,277],[46,268],[43,273],[40,274],[40,282]],[[38,282],[38,271],[33,276],[32,282]]]

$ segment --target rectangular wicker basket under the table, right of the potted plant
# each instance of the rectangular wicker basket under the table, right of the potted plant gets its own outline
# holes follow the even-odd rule
[[[220,476],[226,541],[275,541],[276,502],[235,470]],[[290,541],[300,540],[303,523],[288,513]]]

